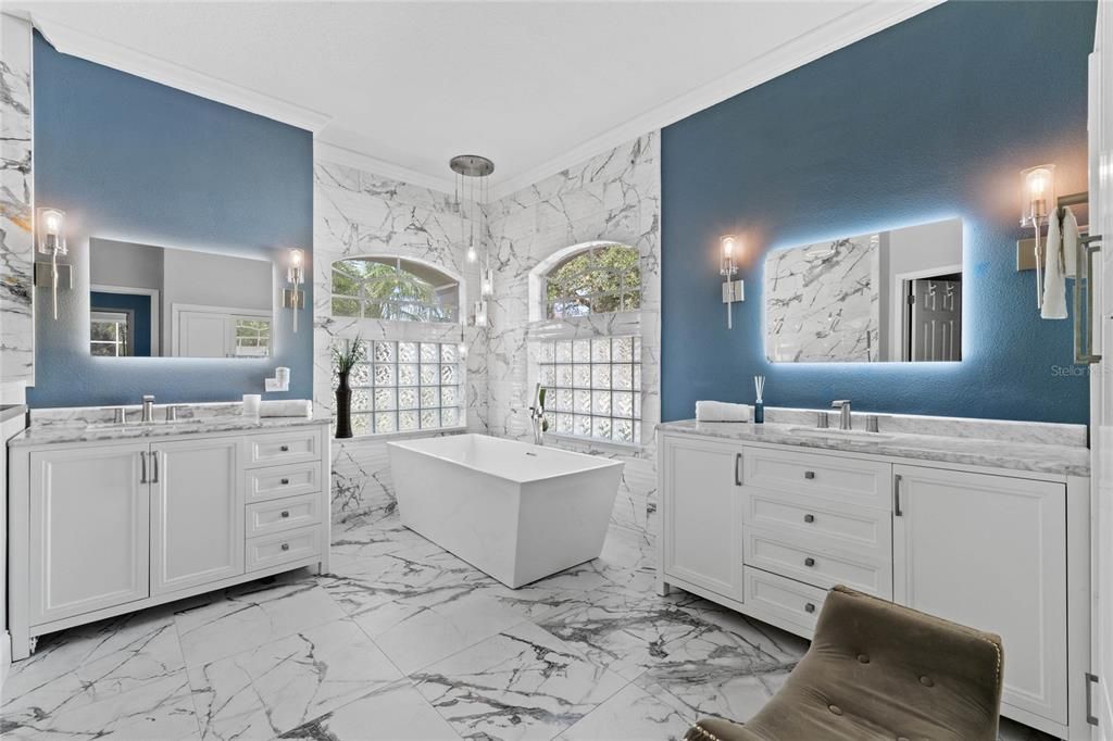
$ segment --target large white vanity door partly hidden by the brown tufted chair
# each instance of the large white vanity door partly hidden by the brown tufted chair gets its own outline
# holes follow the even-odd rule
[[[1001,635],[1002,701],[1066,723],[1065,485],[893,472],[895,601]]]

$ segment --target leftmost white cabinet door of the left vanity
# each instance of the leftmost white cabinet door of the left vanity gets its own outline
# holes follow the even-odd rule
[[[146,443],[31,453],[31,625],[148,596],[146,453]]]

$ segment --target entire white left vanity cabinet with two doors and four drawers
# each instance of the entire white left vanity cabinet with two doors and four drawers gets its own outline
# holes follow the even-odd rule
[[[327,426],[244,426],[9,443],[13,659],[45,633],[292,569],[327,570]]]

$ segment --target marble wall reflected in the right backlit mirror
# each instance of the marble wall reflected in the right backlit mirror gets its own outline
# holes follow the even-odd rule
[[[880,235],[769,253],[766,355],[795,363],[879,359]]]

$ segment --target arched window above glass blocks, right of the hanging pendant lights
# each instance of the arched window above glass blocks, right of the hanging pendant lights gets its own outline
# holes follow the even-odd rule
[[[545,316],[561,319],[641,307],[638,250],[593,244],[561,259],[544,276]]]

